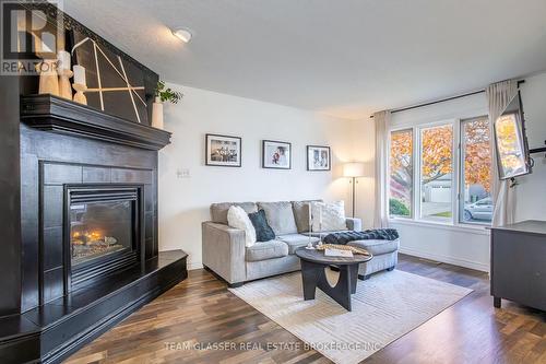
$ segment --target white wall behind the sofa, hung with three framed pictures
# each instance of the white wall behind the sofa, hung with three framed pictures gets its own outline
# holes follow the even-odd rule
[[[351,213],[351,190],[347,179],[341,178],[341,163],[354,154],[355,121],[170,86],[185,97],[178,105],[165,106],[165,129],[173,132],[173,143],[159,153],[161,250],[183,249],[190,255],[190,268],[201,267],[201,222],[210,219],[212,202],[344,199]],[[242,137],[241,168],[204,165],[207,132]],[[361,140],[368,144],[371,140],[372,145],[372,138]],[[292,142],[290,171],[261,168],[263,139]],[[306,171],[307,144],[332,148],[331,172]],[[178,178],[179,169],[189,169],[190,178]]]

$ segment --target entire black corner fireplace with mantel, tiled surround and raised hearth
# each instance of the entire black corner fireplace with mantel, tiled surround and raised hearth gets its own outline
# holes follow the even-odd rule
[[[59,363],[186,279],[158,251],[157,151],[170,133],[50,95],[20,98],[17,312],[1,363]]]

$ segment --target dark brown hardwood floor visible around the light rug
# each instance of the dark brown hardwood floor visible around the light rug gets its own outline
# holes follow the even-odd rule
[[[397,269],[474,292],[365,363],[546,363],[546,313],[507,301],[501,309],[494,308],[486,273],[404,255]],[[193,349],[205,343],[236,348]],[[249,350],[241,350],[241,344]],[[194,270],[67,363],[330,361],[306,350],[299,339],[227,291],[225,283]]]

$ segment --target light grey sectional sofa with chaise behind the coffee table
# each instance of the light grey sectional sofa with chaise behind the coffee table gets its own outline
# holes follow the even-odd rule
[[[234,204],[247,213],[264,210],[275,239],[246,247],[245,232],[227,225],[227,211]],[[306,246],[309,240],[319,240],[319,233],[308,232],[308,213],[306,201],[213,203],[211,221],[202,223],[203,266],[230,286],[299,270],[299,258],[294,254],[295,250]],[[361,231],[359,219],[346,219],[346,225],[347,230]],[[349,244],[364,247],[375,255],[370,262],[360,265],[360,278],[392,269],[396,265],[397,240],[358,240]]]

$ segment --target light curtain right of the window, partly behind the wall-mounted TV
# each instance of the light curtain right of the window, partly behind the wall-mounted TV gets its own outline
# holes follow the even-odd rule
[[[510,180],[499,179],[497,168],[497,149],[495,148],[495,120],[502,114],[508,104],[518,94],[518,82],[513,80],[497,82],[486,89],[489,105],[489,127],[491,132],[491,197],[495,203],[492,213],[492,226],[510,224],[514,222],[515,211],[515,187],[510,187]]]

